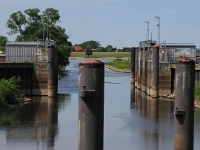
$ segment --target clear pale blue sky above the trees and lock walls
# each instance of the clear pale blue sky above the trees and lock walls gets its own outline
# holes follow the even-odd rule
[[[61,22],[73,45],[98,41],[101,46],[137,47],[148,37],[166,43],[194,43],[200,48],[199,0],[0,0],[0,35],[14,41],[6,28],[9,16],[17,11],[46,8],[59,11]]]

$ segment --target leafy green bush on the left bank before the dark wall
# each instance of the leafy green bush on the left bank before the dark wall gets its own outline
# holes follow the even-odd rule
[[[16,98],[19,97],[20,78],[12,77],[8,80],[0,80],[0,105],[15,103]]]

